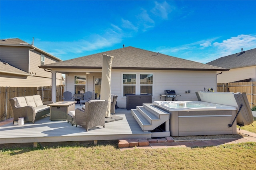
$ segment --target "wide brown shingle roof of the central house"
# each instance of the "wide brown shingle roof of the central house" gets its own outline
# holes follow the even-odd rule
[[[102,68],[102,54],[112,55],[112,69],[141,69],[141,70],[217,70],[228,69],[202,64],[194,61],[180,59],[156,52],[124,47],[112,51],[106,51],[76,59],[46,64],[41,68]]]

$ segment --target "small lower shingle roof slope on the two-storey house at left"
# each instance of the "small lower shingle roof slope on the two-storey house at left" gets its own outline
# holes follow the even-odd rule
[[[8,64],[2,60],[0,60],[0,72],[1,73],[7,73],[7,74],[18,74],[18,75],[23,75],[23,76],[32,76],[31,74],[22,71],[11,64]]]

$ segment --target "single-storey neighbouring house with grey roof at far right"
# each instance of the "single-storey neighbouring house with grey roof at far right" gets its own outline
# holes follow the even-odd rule
[[[240,53],[221,57],[206,64],[229,69],[227,72],[217,72],[221,73],[218,74],[218,83],[256,81],[256,49],[242,49]]]

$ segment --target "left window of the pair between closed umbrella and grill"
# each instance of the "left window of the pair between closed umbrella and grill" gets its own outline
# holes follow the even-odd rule
[[[136,74],[123,74],[123,96],[135,94]]]

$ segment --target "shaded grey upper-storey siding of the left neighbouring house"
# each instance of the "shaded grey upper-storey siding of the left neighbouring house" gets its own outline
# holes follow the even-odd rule
[[[28,49],[29,47],[1,46],[0,58],[16,68],[28,72]]]

